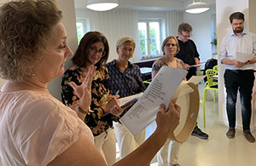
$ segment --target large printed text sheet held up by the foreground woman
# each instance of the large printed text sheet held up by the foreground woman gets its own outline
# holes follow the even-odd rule
[[[120,118],[132,135],[137,135],[154,121],[161,103],[168,107],[172,94],[186,74],[185,70],[168,66],[160,69],[143,96]]]

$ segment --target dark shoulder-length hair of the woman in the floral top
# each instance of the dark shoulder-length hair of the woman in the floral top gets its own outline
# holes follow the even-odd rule
[[[104,55],[102,55],[101,60],[95,65],[97,69],[100,69],[102,64],[106,63],[108,60],[109,46],[107,38],[99,31],[89,31],[84,35],[79,43],[78,49],[71,59],[73,64],[79,67],[85,66],[86,54],[89,53],[90,45],[97,42],[102,42],[104,45]]]

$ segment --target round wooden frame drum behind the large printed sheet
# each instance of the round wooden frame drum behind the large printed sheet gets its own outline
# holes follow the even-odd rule
[[[189,93],[186,93],[186,89],[184,88],[186,86],[191,88]],[[179,124],[173,133],[169,135],[169,139],[183,142],[189,138],[195,128],[200,104],[199,92],[195,83],[183,81],[173,95],[175,94],[177,98],[173,99],[172,102],[181,106],[181,113]]]

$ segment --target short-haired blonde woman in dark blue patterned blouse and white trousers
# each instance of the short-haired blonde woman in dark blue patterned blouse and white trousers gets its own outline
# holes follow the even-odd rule
[[[116,52],[119,55],[118,59],[106,65],[108,67],[112,94],[116,94],[119,91],[121,98],[139,94],[145,89],[140,68],[129,61],[133,56],[135,46],[136,44],[132,37],[120,37],[116,42]],[[130,108],[131,106],[126,108],[122,115]],[[122,123],[115,122],[113,126],[115,138],[119,145],[120,158],[134,151],[145,140],[145,129],[137,136],[133,136],[125,129]]]

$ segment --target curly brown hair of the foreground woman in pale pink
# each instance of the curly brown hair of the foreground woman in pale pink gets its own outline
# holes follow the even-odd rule
[[[0,75],[22,82],[28,66],[43,58],[62,14],[53,0],[4,3],[0,11]]]

